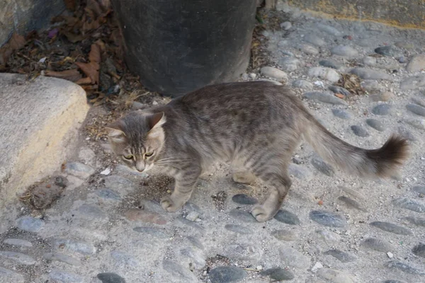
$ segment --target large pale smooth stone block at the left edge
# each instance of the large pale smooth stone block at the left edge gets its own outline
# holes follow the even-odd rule
[[[86,92],[75,83],[0,74],[0,132],[8,133],[0,135],[1,213],[26,187],[60,168],[77,146],[88,110]],[[10,217],[15,216],[9,210],[0,214],[0,231]]]

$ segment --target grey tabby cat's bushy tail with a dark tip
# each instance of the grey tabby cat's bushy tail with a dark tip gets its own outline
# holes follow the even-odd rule
[[[331,134],[307,113],[304,136],[325,161],[360,176],[391,177],[408,156],[406,139],[392,136],[380,149],[361,149]]]

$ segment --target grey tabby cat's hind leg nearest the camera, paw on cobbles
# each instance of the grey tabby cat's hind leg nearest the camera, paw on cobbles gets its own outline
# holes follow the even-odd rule
[[[257,205],[252,209],[251,214],[259,222],[267,221],[276,215],[283,200],[290,189],[292,181],[285,171],[276,171],[260,173],[258,176],[264,183],[270,186],[271,192],[261,205]]]

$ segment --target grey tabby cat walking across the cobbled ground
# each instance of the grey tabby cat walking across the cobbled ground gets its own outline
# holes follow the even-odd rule
[[[183,206],[199,175],[215,161],[234,168],[236,182],[259,178],[271,187],[252,209],[271,219],[288,194],[288,165],[302,136],[325,161],[360,176],[389,177],[407,157],[407,141],[391,137],[380,149],[351,146],[327,131],[285,86],[264,81],[206,86],[167,105],[137,110],[108,127],[115,154],[131,169],[155,166],[176,180],[161,200]]]

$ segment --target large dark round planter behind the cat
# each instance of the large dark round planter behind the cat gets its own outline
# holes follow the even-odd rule
[[[150,91],[181,96],[249,64],[256,0],[112,0],[125,60]]]

